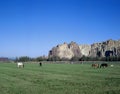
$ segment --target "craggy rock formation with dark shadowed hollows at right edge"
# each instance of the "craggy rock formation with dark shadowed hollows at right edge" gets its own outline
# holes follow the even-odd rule
[[[94,43],[91,45],[91,57],[107,57],[118,56],[120,48],[120,41],[107,40],[101,43]]]

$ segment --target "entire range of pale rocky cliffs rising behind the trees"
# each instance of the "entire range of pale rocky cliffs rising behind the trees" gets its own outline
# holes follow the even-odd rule
[[[75,42],[64,43],[53,47],[49,52],[49,57],[58,56],[67,59],[83,55],[88,57],[120,56],[120,40],[107,40],[92,45],[78,45]]]

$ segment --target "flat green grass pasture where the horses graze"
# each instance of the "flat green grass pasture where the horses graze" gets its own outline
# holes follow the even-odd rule
[[[0,94],[120,94],[120,64],[94,69],[91,64],[0,63]]]

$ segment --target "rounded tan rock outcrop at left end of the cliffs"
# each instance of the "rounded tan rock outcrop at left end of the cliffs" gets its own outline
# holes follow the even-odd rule
[[[81,56],[81,52],[78,44],[71,42],[70,44],[64,43],[52,48],[52,50],[49,52],[49,57],[53,56],[71,59],[74,56]]]

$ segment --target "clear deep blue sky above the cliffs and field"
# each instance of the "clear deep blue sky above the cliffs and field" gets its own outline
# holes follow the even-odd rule
[[[120,39],[120,0],[0,0],[0,56]]]

